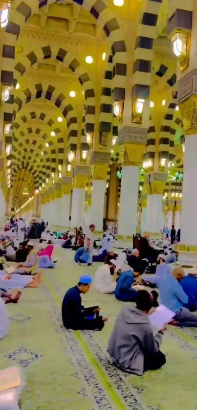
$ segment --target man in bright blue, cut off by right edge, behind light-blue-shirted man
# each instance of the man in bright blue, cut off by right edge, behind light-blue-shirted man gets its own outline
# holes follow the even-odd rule
[[[197,310],[197,279],[191,273],[185,276],[183,268],[177,267],[176,272],[178,271],[183,276],[180,285],[188,296],[188,302],[184,304],[184,307],[189,309],[190,312],[195,312]]]

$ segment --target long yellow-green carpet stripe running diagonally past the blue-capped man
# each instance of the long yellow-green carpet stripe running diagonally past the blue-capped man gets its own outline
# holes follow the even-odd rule
[[[50,292],[51,296],[53,297],[54,301],[57,303],[59,309],[61,310],[62,301],[61,301],[58,293],[53,288],[53,286],[50,283],[49,279],[45,275],[43,277],[43,281],[44,281],[44,284],[47,287],[48,291]],[[100,383],[103,385],[103,387],[106,389],[107,393],[109,394],[109,397],[110,397],[111,401],[113,402],[114,409],[116,409],[116,410],[126,410],[127,407],[122,402],[120,396],[118,395],[116,389],[113,387],[112,383],[110,383],[106,373],[102,369],[102,367],[99,364],[98,360],[92,354],[91,350],[88,347],[88,344],[85,342],[85,340],[84,340],[82,334],[80,333],[80,331],[76,330],[73,333],[74,333],[77,341],[81,345],[84,353],[88,357],[89,363],[94,368],[94,371],[97,374],[98,380],[100,381]]]

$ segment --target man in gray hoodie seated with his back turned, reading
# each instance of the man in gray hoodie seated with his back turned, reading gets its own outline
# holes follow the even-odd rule
[[[166,327],[153,336],[148,317],[152,306],[153,296],[146,290],[139,291],[136,308],[129,303],[121,309],[108,343],[113,362],[122,370],[139,376],[166,363],[159,350]]]

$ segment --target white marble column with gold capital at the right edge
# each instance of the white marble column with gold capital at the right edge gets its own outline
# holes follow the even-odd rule
[[[193,18],[193,27],[196,27],[197,12]],[[193,68],[197,67],[196,30],[192,31],[191,48],[190,65],[187,74],[178,81],[177,96],[185,135],[180,228],[181,244],[197,246],[197,68]]]

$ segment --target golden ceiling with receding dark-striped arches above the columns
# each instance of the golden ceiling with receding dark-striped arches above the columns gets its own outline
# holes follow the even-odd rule
[[[25,202],[24,188],[31,195],[34,189],[50,183],[51,173],[57,175],[58,166],[65,165],[71,144],[79,148],[86,142],[85,122],[99,135],[101,104],[111,104],[108,94],[102,96],[103,87],[114,95],[126,88],[126,75],[121,71],[130,63],[135,37],[143,28],[141,14],[148,10],[145,3],[125,0],[123,7],[115,7],[112,0],[13,0],[6,29],[17,34],[12,153],[6,161],[12,170],[13,206]],[[177,61],[166,37],[169,1],[163,0],[160,12],[160,3],[154,3],[158,24],[153,33],[150,97],[155,108],[163,98],[167,101],[161,111],[162,122],[176,92]],[[92,64],[86,63],[87,55],[93,57]],[[16,88],[17,83],[20,88]],[[70,91],[75,91],[74,98]],[[153,118],[157,114],[154,110],[151,113]],[[170,129],[178,133],[181,123],[175,119],[173,114]],[[117,128],[116,119],[110,121]],[[112,161],[119,161],[118,146],[111,148]],[[28,186],[24,186],[24,178]]]

